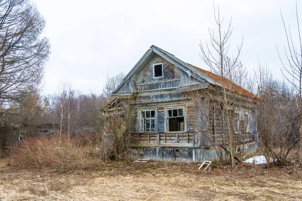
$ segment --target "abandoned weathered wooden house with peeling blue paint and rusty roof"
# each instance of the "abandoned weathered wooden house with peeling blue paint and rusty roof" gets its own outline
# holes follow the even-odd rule
[[[208,95],[209,87],[221,87],[220,82],[220,76],[188,64],[153,45],[112,93],[113,100],[105,110],[110,114],[120,114],[120,110],[131,108],[135,123],[129,131],[128,143],[129,153],[134,157],[214,160],[217,159],[215,146],[219,146],[219,140],[215,145],[211,139],[220,136],[222,143],[223,121],[218,113],[214,115],[215,107],[200,107],[196,103],[206,104],[203,97]],[[252,151],[256,147],[256,121],[252,106],[259,98],[234,83],[229,89],[237,93],[238,100],[247,103],[237,112],[234,129],[237,135],[246,134],[241,142],[245,151]]]

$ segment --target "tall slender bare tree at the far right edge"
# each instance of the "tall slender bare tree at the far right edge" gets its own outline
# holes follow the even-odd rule
[[[282,12],[280,10],[284,30],[285,30],[285,36],[287,40],[287,47],[284,47],[285,52],[285,61],[281,59],[280,53],[278,51],[279,58],[282,63],[282,73],[286,80],[294,87],[296,92],[298,93],[298,106],[299,106],[299,112],[298,112],[298,118],[300,122],[300,144],[299,144],[299,163],[302,164],[302,40],[301,40],[301,33],[300,33],[300,27],[299,27],[299,18],[298,18],[298,9],[297,9],[297,3],[296,3],[296,23],[297,23],[297,43],[293,42],[294,38],[290,32],[290,28],[288,25],[288,28],[285,26],[285,22],[282,16]],[[298,45],[298,47],[296,47]]]

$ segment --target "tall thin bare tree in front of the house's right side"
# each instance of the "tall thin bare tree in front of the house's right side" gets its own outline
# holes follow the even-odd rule
[[[221,145],[222,143],[224,146],[220,146],[220,148],[230,154],[233,168],[235,164],[236,147],[244,140],[244,137],[238,138],[237,135],[237,131],[240,130],[239,116],[242,112],[241,110],[243,110],[242,108],[249,107],[243,107],[245,102],[242,102],[240,98],[238,98],[238,92],[243,90],[243,88],[233,84],[237,83],[242,86],[245,85],[244,82],[247,73],[239,61],[243,39],[241,44],[237,47],[236,55],[233,58],[229,57],[229,39],[233,32],[231,26],[232,19],[226,29],[223,30],[222,25],[224,18],[220,18],[219,7],[217,14],[214,9],[214,17],[217,25],[217,32],[209,30],[210,43],[200,43],[200,56],[210,70],[218,75],[220,87],[210,88],[210,96],[208,96],[210,100],[208,103],[211,104],[209,107],[212,109],[213,117],[211,118],[214,121],[214,127],[216,127],[216,121],[219,121],[222,125],[219,137],[221,142],[218,144]],[[216,142],[215,136],[211,139],[214,139]]]

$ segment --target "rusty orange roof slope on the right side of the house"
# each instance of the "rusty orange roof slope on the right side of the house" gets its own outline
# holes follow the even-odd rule
[[[234,82],[232,82],[231,80],[227,79],[227,78],[223,78],[220,76],[220,75],[217,75],[215,73],[212,73],[210,71],[207,71],[207,70],[204,70],[204,69],[201,69],[201,68],[198,68],[196,66],[193,66],[192,64],[189,64],[191,65],[192,67],[194,67],[196,70],[202,72],[203,74],[205,74],[206,76],[210,77],[211,79],[215,80],[216,82],[220,83],[222,86],[224,85],[226,88],[234,91],[234,92],[237,92],[237,93],[240,93],[242,95],[246,95],[246,96],[249,96],[249,97],[253,97],[253,98],[257,98],[257,99],[260,99],[257,95],[251,93],[250,91],[242,88],[241,86],[235,84]]]

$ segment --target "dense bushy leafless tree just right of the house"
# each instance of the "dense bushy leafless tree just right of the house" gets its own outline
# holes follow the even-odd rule
[[[262,99],[257,106],[257,143],[266,157],[267,168],[271,163],[283,165],[299,141],[296,95],[284,82],[273,79],[260,62],[255,74],[257,94]]]

